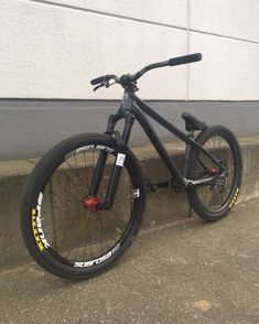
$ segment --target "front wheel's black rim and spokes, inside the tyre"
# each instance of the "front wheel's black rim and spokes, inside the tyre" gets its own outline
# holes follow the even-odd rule
[[[126,168],[110,210],[84,208],[83,199],[87,196],[98,154],[98,150],[72,150],[42,188],[40,231],[46,242],[45,250],[67,266],[89,267],[110,258],[120,249],[132,226],[136,204]],[[99,199],[105,198],[115,159],[108,153]]]

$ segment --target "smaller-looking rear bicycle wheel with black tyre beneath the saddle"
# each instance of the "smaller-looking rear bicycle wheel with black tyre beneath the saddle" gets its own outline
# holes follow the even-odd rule
[[[188,170],[190,180],[214,176],[206,185],[196,185],[187,191],[194,212],[205,220],[215,222],[228,214],[235,205],[241,185],[242,161],[240,148],[231,131],[223,126],[214,126],[201,132],[195,139],[216,160],[227,173],[220,175],[212,159],[201,150],[194,150]]]

